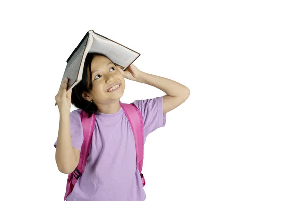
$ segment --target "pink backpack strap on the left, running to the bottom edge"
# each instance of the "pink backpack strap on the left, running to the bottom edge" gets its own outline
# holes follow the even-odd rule
[[[85,165],[87,162],[87,157],[89,154],[92,133],[94,130],[94,124],[96,120],[96,115],[92,114],[90,118],[88,118],[88,113],[84,110],[81,111],[80,114],[82,127],[83,127],[83,143],[81,146],[80,158],[77,168],[68,175],[67,179],[67,186],[66,186],[66,193],[64,196],[64,201],[66,200],[67,196],[72,192],[75,183],[77,183],[78,178],[84,173]]]

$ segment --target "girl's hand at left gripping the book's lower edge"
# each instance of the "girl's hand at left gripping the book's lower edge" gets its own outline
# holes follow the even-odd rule
[[[68,112],[68,114],[70,113],[70,109],[71,109],[71,93],[72,90],[70,90],[67,93],[67,86],[68,86],[68,81],[69,79],[66,78],[59,89],[58,94],[55,96],[55,101],[56,104],[59,107],[59,111],[61,112]]]

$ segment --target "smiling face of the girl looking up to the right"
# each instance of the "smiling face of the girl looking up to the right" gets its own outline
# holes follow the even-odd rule
[[[97,55],[93,58],[90,96],[95,104],[111,103],[123,96],[125,79],[117,68],[107,57]]]

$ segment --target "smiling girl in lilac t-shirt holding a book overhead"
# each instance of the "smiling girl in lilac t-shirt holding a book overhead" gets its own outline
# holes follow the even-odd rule
[[[88,54],[82,80],[68,93],[68,79],[64,80],[55,96],[60,112],[55,158],[62,173],[73,172],[79,162],[83,142],[81,110],[89,116],[96,114],[85,171],[67,201],[143,201],[146,198],[136,166],[132,130],[119,104],[125,89],[124,78],[166,93],[163,97],[133,102],[142,114],[144,142],[149,133],[165,126],[166,113],[190,94],[186,86],[142,72],[133,64],[123,71],[104,55]],[[70,113],[71,103],[79,109]]]

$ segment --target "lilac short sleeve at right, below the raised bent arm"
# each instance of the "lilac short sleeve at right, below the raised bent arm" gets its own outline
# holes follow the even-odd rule
[[[142,115],[144,141],[149,133],[166,124],[166,114],[163,113],[163,96],[146,100],[135,100],[133,104]]]

